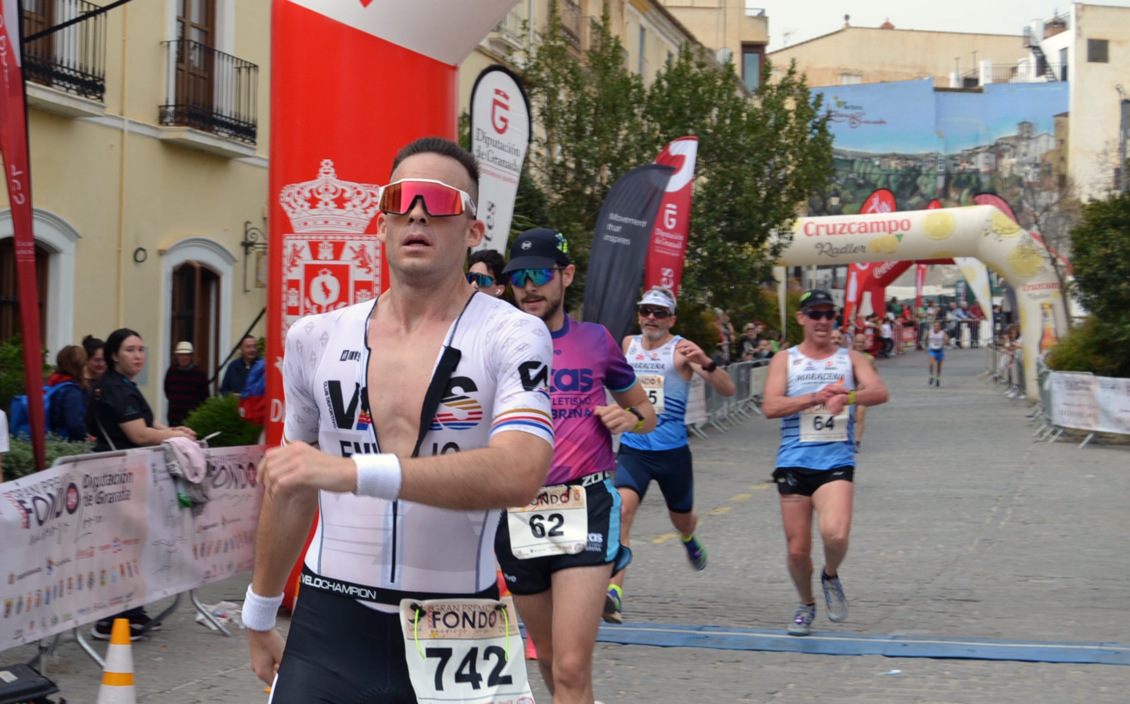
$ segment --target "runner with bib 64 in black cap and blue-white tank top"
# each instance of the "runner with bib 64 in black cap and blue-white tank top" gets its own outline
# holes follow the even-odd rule
[[[851,529],[855,437],[852,411],[857,403],[887,400],[887,388],[861,354],[832,346],[836,315],[832,296],[809,290],[800,297],[797,322],[805,341],[774,355],[765,381],[766,418],[781,418],[781,447],[773,478],[781,495],[781,520],[789,546],[789,574],[800,606],[789,626],[792,635],[811,633],[816,617],[812,598],[812,511],[819,514],[824,540],[820,585],[828,618],[847,618],[847,599],[838,568],[847,554]]]

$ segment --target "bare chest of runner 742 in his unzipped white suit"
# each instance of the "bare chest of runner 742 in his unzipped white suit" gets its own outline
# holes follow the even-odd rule
[[[381,452],[409,457],[419,433],[420,409],[451,321],[405,331],[380,318],[368,325],[368,408]]]

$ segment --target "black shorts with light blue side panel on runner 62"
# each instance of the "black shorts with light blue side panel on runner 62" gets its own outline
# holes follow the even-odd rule
[[[605,478],[585,486],[585,503],[589,507],[589,540],[584,550],[576,555],[514,557],[510,549],[510,527],[506,514],[503,514],[495,533],[495,557],[511,593],[540,594],[551,586],[551,575],[558,570],[611,566],[612,563],[621,568],[620,563],[627,559],[629,553],[620,545],[620,495],[612,488],[612,480]]]

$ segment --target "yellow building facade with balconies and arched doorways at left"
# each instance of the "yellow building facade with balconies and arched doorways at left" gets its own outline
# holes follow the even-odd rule
[[[25,9],[31,36],[93,6],[25,8],[41,10]],[[160,419],[173,346],[193,342],[211,375],[264,305],[257,247],[241,243],[266,225],[269,15],[269,0],[151,0],[25,45],[49,359],[86,334],[137,330],[149,354],[136,381]],[[7,338],[19,323],[0,198]]]

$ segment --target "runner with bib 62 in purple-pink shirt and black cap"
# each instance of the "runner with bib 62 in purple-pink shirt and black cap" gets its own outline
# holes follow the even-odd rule
[[[514,238],[510,257],[504,271],[518,307],[544,320],[554,339],[554,461],[536,505],[506,511],[495,555],[554,704],[593,704],[592,651],[605,588],[631,559],[620,546],[611,434],[650,432],[655,411],[608,330],[565,313],[576,268],[564,235],[528,229]],[[607,405],[606,389],[615,403]]]

